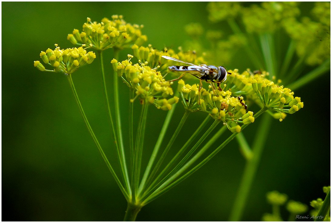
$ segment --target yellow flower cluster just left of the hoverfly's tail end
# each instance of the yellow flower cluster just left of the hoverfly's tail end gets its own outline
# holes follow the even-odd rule
[[[136,96],[131,102],[139,98],[142,103],[149,102],[159,109],[170,110],[172,105],[179,101],[178,97],[169,98],[173,95],[170,82],[166,81],[159,71],[149,66],[132,64],[130,59],[133,56],[128,57],[129,59],[122,62],[113,59],[111,63],[114,71],[135,91]]]

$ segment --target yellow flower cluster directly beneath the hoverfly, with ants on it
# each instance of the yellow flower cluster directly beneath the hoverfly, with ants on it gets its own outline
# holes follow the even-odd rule
[[[212,118],[222,120],[232,132],[241,131],[239,124],[250,124],[255,120],[253,112],[246,111],[243,97],[231,97],[228,90],[199,89],[197,84],[189,85],[179,80],[178,92],[187,110],[207,112]]]

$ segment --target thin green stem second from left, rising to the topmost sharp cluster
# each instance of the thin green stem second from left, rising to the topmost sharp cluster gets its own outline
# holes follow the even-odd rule
[[[103,90],[104,90],[104,98],[106,102],[106,107],[107,107],[107,112],[109,115],[109,121],[111,122],[111,127],[114,135],[114,140],[116,142],[116,148],[117,148],[117,155],[118,155],[118,160],[120,162],[120,166],[123,172],[123,178],[125,182],[125,187],[126,191],[130,194],[130,186],[129,186],[129,180],[128,180],[128,173],[126,171],[126,165],[125,165],[125,157],[123,150],[120,150],[118,140],[117,140],[117,134],[114,128],[114,121],[111,113],[111,106],[110,106],[110,101],[108,98],[108,93],[107,93],[107,87],[106,87],[106,80],[105,80],[105,71],[104,71],[104,61],[103,61],[103,51],[99,51],[99,57],[100,57],[100,67],[102,71],[102,83],[103,83]]]

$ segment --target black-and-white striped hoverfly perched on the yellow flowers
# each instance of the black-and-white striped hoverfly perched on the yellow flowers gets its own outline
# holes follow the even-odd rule
[[[226,68],[223,66],[213,66],[213,65],[206,65],[206,64],[200,64],[200,65],[195,65],[192,63],[188,63],[179,59],[176,59],[174,57],[170,56],[164,56],[162,55],[163,58],[167,60],[172,60],[175,62],[179,63],[184,63],[187,64],[187,66],[170,66],[168,67],[169,70],[171,71],[182,71],[183,74],[181,74],[178,78],[170,80],[170,81],[177,81],[181,79],[186,73],[190,73],[191,75],[197,77],[200,80],[200,87],[199,87],[199,97],[200,97],[200,91],[202,89],[202,80],[210,83],[213,91],[215,90],[214,83],[217,83],[218,89],[221,91],[220,88],[220,83],[226,81],[227,79],[227,74],[231,74],[227,72]],[[199,104],[200,100],[199,100]]]

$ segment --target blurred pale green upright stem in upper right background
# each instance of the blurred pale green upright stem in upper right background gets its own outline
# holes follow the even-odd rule
[[[273,75],[276,75],[276,66],[275,66],[275,48],[274,48],[274,42],[273,37],[270,33],[264,33],[259,36],[261,47],[264,55],[264,60],[266,64],[267,71],[271,74],[271,77]]]

